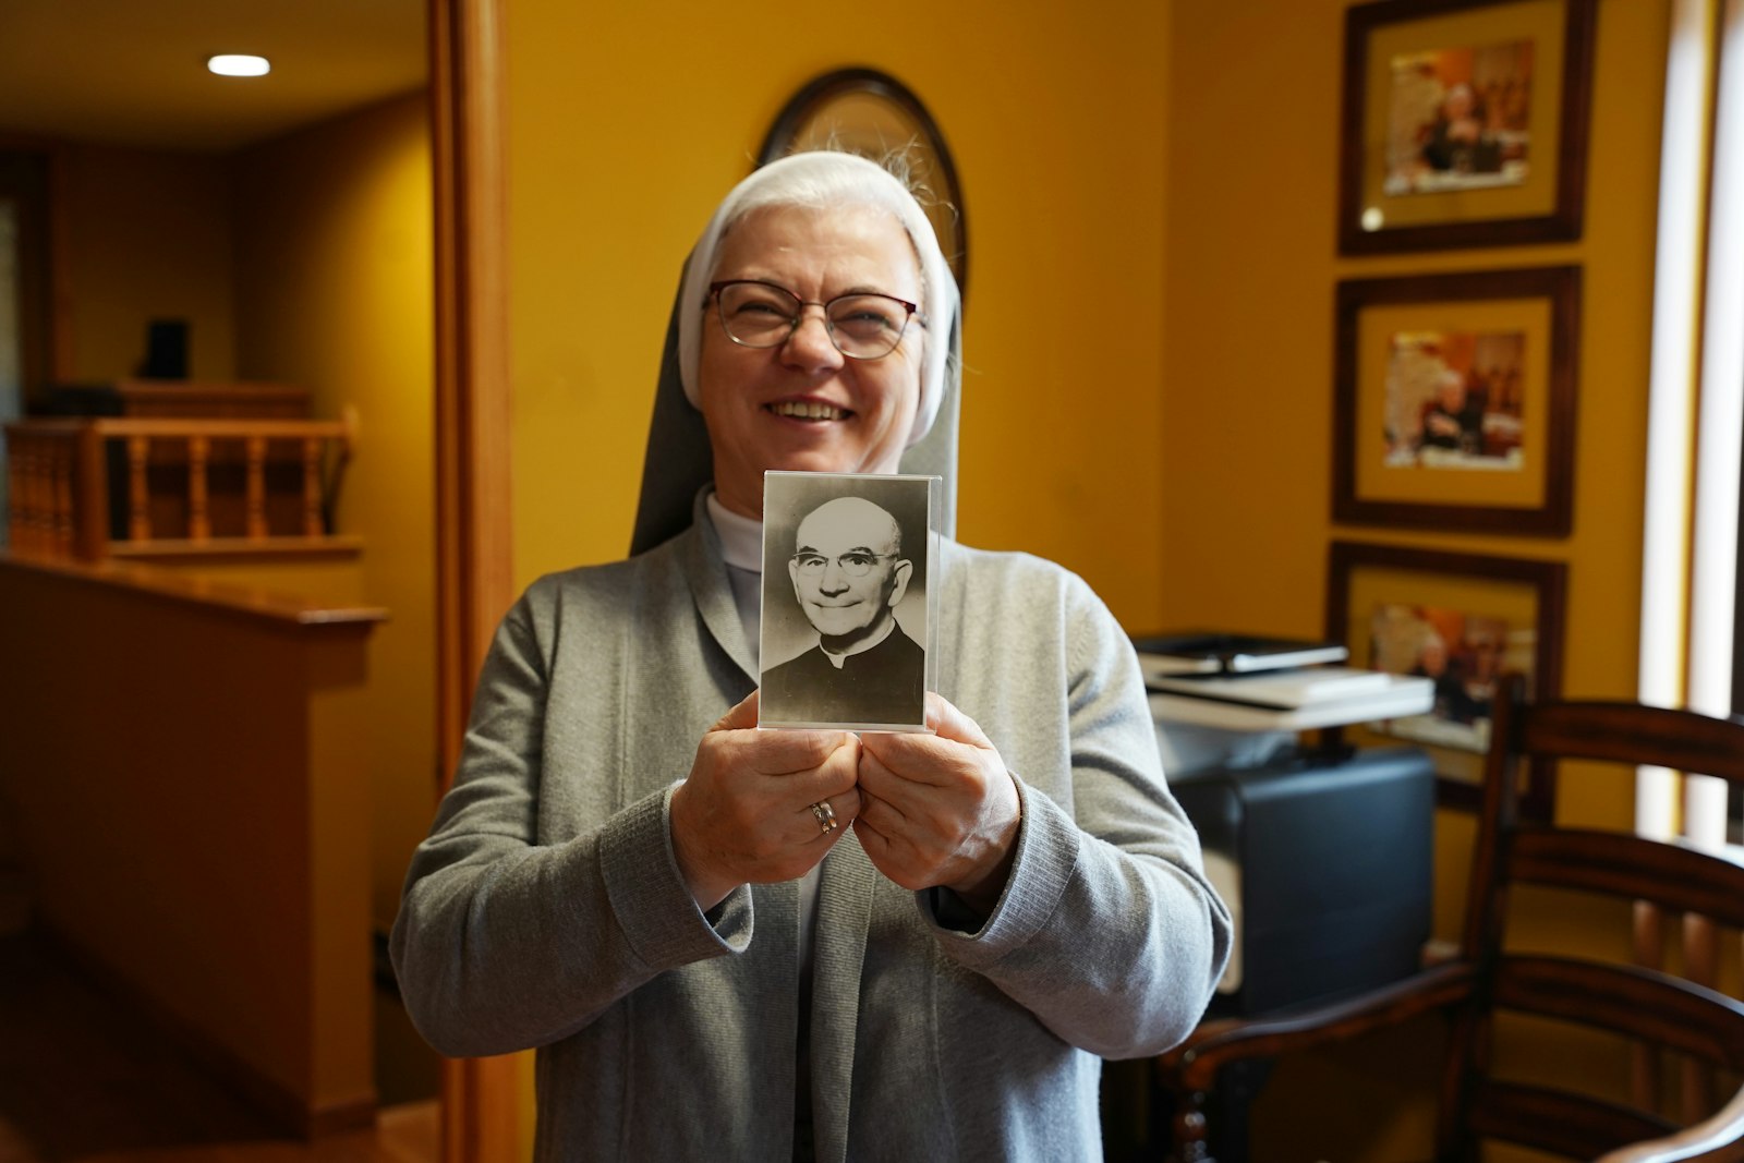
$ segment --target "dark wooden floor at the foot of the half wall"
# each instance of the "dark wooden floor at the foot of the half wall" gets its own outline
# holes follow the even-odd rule
[[[0,1163],[431,1163],[436,1104],[316,1144],[276,1135],[33,936],[0,936]]]

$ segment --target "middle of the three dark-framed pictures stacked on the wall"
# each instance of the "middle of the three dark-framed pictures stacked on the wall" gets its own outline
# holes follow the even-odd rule
[[[1580,269],[1338,284],[1332,520],[1563,537]]]

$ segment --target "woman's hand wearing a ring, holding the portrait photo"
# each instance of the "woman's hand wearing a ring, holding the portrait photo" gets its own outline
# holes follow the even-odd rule
[[[860,814],[858,772],[853,732],[759,731],[755,690],[727,711],[671,793],[671,847],[698,907],[809,872]],[[820,800],[835,813],[830,832],[811,811]]]

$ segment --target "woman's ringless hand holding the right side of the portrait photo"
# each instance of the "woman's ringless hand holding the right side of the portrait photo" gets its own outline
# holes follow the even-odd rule
[[[975,720],[933,692],[926,725],[937,734],[860,739],[855,832],[902,888],[949,888],[985,917],[1017,851],[1017,785]]]

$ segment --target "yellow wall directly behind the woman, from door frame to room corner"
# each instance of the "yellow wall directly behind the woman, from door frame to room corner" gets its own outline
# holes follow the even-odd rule
[[[870,65],[944,127],[970,239],[959,534],[1160,589],[1167,5],[807,10],[682,0],[508,12],[520,582],[624,554],[678,267],[783,103]]]

